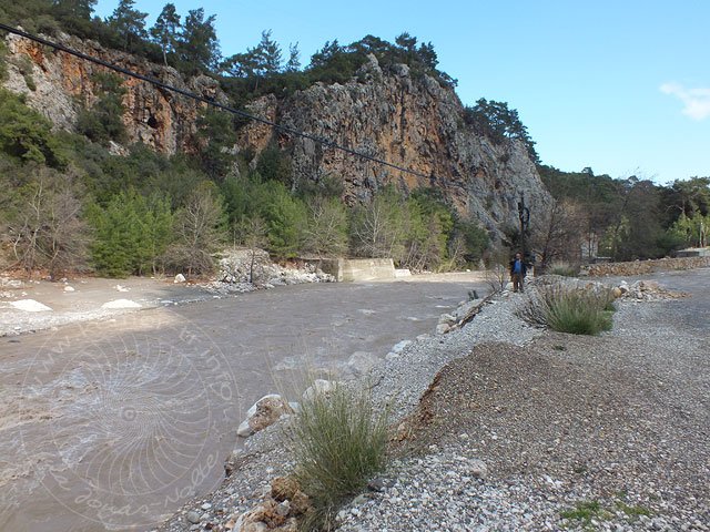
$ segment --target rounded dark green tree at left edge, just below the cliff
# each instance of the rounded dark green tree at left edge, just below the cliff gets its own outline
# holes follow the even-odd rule
[[[22,162],[61,168],[67,164],[51,123],[21,96],[0,89],[0,152]]]

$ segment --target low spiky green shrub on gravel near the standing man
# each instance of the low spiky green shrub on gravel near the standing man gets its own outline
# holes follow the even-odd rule
[[[538,288],[519,311],[528,321],[558,332],[598,335],[611,329],[613,296],[608,289],[579,289],[561,284]]]

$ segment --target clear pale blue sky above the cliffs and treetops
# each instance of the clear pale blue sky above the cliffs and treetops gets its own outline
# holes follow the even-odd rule
[[[135,0],[152,25],[168,0]],[[544,164],[668,184],[710,176],[707,0],[173,0],[216,16],[224,57],[264,30],[298,43],[305,66],[326,41],[403,32],[432,42],[466,105],[516,109]],[[109,17],[118,0],[99,0]]]

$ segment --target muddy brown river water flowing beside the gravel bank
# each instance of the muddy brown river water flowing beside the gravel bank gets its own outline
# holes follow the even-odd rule
[[[0,530],[151,530],[219,485],[256,399],[352,377],[471,288],[300,285],[0,338]]]

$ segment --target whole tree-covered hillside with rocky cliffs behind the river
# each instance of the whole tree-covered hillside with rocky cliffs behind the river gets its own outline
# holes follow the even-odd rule
[[[628,259],[703,242],[709,178],[659,186],[541,165],[516,110],[462,105],[434,45],[407,33],[327,42],[303,65],[270,31],[223,57],[203,9],[168,3],[149,28],[132,0],[105,20],[94,6],[1,0],[0,21],[413,172],[11,35],[0,50],[2,267],[196,275],[224,246],[247,245],[446,269],[521,244],[545,264],[579,260],[582,244]]]

